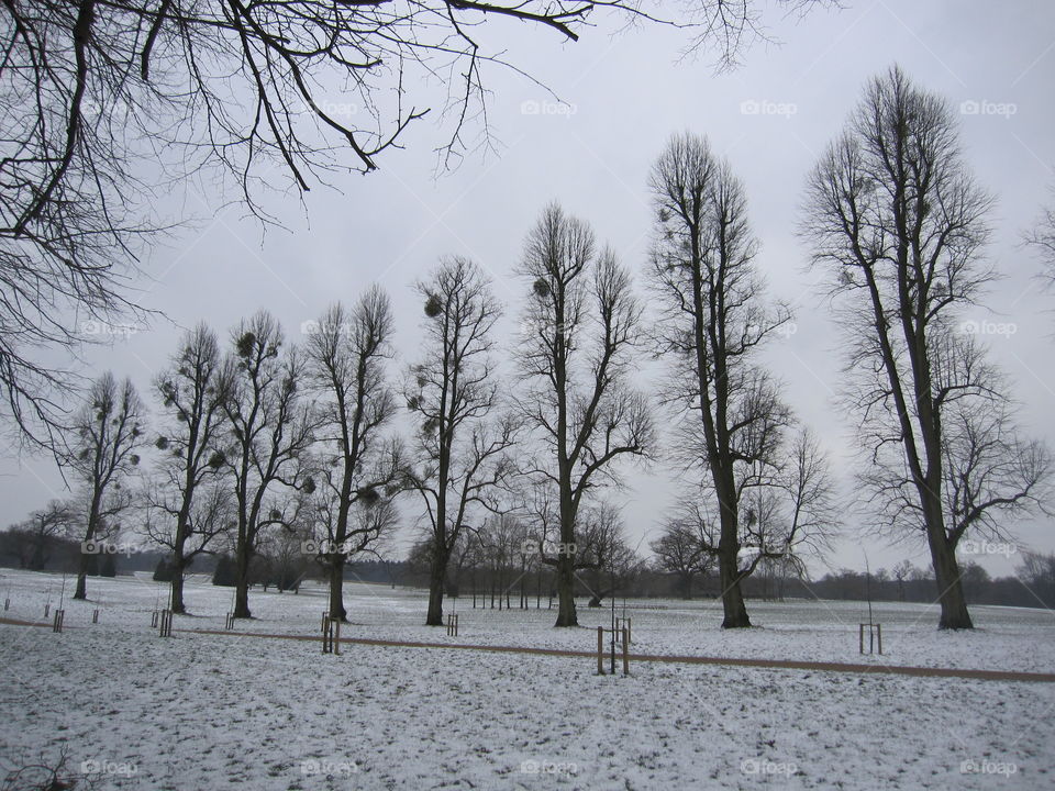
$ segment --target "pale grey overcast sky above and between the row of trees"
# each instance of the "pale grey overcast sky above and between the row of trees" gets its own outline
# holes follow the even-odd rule
[[[523,77],[491,69],[492,151],[436,178],[433,149],[442,132],[422,121],[409,131],[406,151],[381,156],[380,171],[333,175],[333,188],[314,187],[304,205],[292,194],[269,198],[267,208],[288,231],[262,234],[238,207],[222,208],[221,196],[189,190],[173,197],[170,214],[198,221],[152,250],[144,261],[149,279],[142,281],[146,307],[171,323],[158,321],[88,350],[89,372],[127,374],[147,394],[179,327],[206,320],[225,336],[240,317],[267,308],[298,339],[302,322],[333,300],[351,302],[370,281],[392,297],[401,367],[415,354],[421,315],[410,287],[444,254],[470,256],[491,272],[512,333],[523,291],[512,270],[544,204],[558,200],[588,220],[640,274],[651,223],[648,168],[673,132],[691,130],[709,136],[746,183],[769,293],[796,308],[796,332],[773,345],[768,360],[798,414],[831,449],[849,491],[849,424],[832,403],[840,335],[795,227],[808,170],[865,81],[898,63],[959,111],[967,160],[998,198],[989,253],[1006,277],[991,290],[987,310],[966,319],[1013,325],[1013,334],[986,339],[1017,387],[1026,431],[1055,446],[1055,322],[1048,312],[1055,293],[1042,291],[1039,264],[1019,245],[1042,203],[1053,200],[1055,3],[878,0],[821,8],[803,19],[768,8],[764,23],[780,44],[756,45],[742,67],[721,76],[706,54],[679,62],[685,38],[676,31],[647,26],[612,35],[609,24],[564,43],[544,30],[496,27],[510,59],[566,104]],[[326,100],[357,110],[336,91]],[[10,458],[0,474],[5,522],[64,493],[49,459]],[[676,490],[662,468],[630,479],[633,488],[618,495],[628,525],[633,535],[652,537]],[[1051,528],[1050,520],[1014,526],[1022,547],[1043,550],[1055,549]],[[862,548],[873,568],[906,556],[926,562],[921,544],[889,547],[849,524],[829,565],[862,568]],[[981,561],[995,573],[1018,562],[1014,556]]]

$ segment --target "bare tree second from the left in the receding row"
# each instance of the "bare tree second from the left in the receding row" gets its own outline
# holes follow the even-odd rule
[[[221,363],[215,333],[206,324],[198,324],[184,335],[168,367],[154,379],[155,394],[168,416],[168,425],[155,442],[162,454],[160,481],[148,497],[158,519],[152,519],[148,534],[171,553],[169,606],[174,613],[186,612],[187,566],[230,526],[230,514],[225,513],[218,491],[209,492],[207,502],[196,508],[199,488],[215,478],[225,461],[221,449]]]

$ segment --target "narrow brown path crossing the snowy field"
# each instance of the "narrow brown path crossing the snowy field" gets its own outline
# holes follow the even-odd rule
[[[0,624],[12,626],[51,626],[44,621],[20,621],[0,617]],[[70,628],[66,626],[65,628]],[[73,628],[77,628],[76,626]],[[269,639],[319,640],[315,635],[276,634],[271,632],[224,632],[222,630],[184,630],[187,634],[222,635],[226,637],[264,637]],[[564,648],[531,648],[525,646],[487,646],[468,643],[422,643],[417,640],[386,640],[369,637],[342,637],[342,645],[387,646],[393,648],[451,648],[499,654],[536,654],[542,656],[597,658],[596,651],[568,650]],[[813,670],[821,672],[853,672],[859,675],[884,673],[888,676],[917,676],[931,678],[964,678],[982,681],[1042,681],[1055,682],[1055,673],[1021,672],[1017,670],[970,670],[958,668],[928,668],[911,665],[862,665],[851,662],[819,662],[798,659],[746,659],[738,657],[675,656],[663,654],[631,654],[631,661],[676,662],[681,665],[719,665],[725,667],[755,667],[778,670]]]

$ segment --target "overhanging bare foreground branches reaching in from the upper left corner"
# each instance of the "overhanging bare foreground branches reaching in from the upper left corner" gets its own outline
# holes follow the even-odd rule
[[[62,369],[84,322],[142,315],[126,288],[162,229],[153,199],[218,171],[260,215],[285,174],[298,190],[330,168],[377,167],[404,130],[442,109],[444,161],[488,145],[484,71],[519,70],[491,20],[577,41],[598,15],[676,24],[722,65],[758,36],[752,0],[466,0],[253,3],[76,0],[0,5],[0,387],[24,436],[49,441]],[[340,88],[338,88],[340,86]]]

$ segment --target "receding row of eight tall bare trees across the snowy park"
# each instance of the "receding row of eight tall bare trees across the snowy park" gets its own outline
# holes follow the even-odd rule
[[[300,346],[263,312],[225,352],[208,327],[193,330],[154,383],[165,417],[147,487],[152,536],[182,568],[233,525],[240,617],[260,536],[313,536],[343,617],[344,564],[376,545],[395,499],[412,492],[427,535],[426,623],[442,623],[452,559],[501,516],[525,525],[523,541],[553,568],[556,624],[570,626],[576,577],[600,562],[591,514],[620,486],[622,460],[663,457],[685,470],[687,494],[655,552],[693,573],[715,568],[723,626],[749,626],[745,580],[825,550],[837,522],[831,474],[759,360],[790,313],[765,296],[743,183],[704,138],[682,134],[648,188],[647,304],[586,222],[547,207],[518,267],[509,370],[496,360],[502,308],[464,258],[418,283],[421,353],[399,398],[391,309],[376,287],[331,308]],[[893,68],[869,82],[813,169],[802,220],[848,338],[845,405],[858,420],[866,504],[885,530],[926,542],[946,628],[971,626],[959,542],[1003,537],[1008,515],[1042,504],[1050,470],[1047,450],[1020,438],[986,349],[957,332],[995,277],[984,258],[990,204],[947,104]],[[634,374],[649,354],[664,372],[646,391]],[[400,400],[409,439],[392,426]],[[671,426],[666,452],[656,409]],[[63,455],[87,489],[88,541],[129,505],[121,484],[144,444],[141,412],[131,382],[104,376]]]

